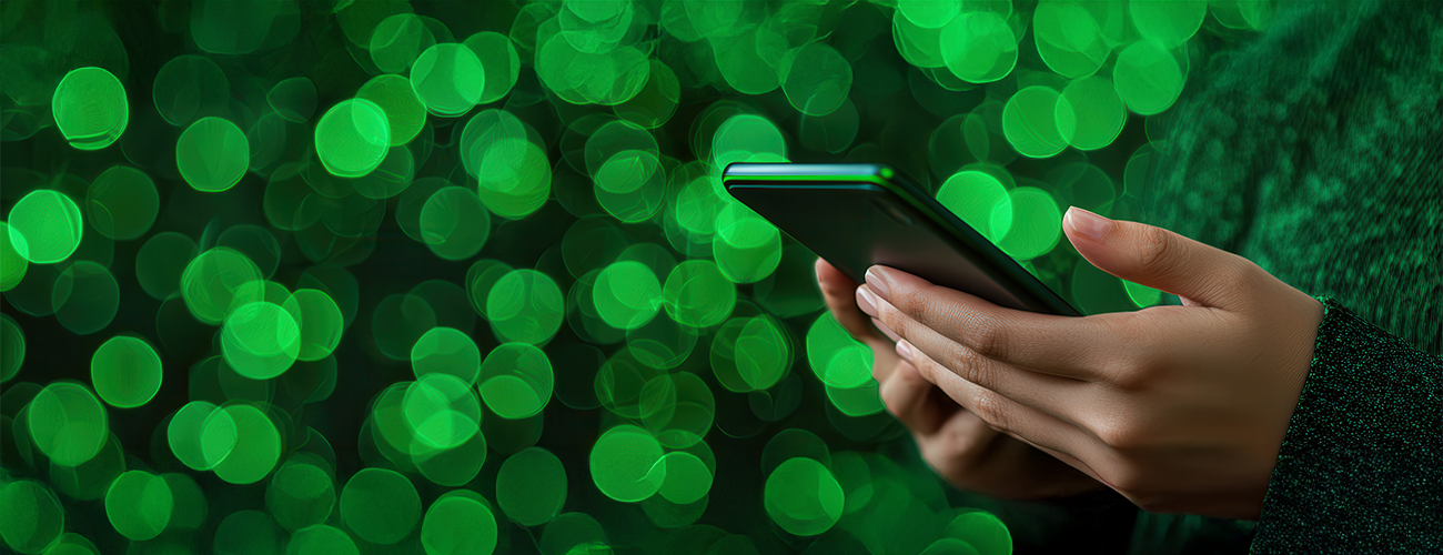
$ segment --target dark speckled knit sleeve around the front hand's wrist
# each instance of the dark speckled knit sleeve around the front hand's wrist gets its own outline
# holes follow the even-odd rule
[[[1443,360],[1319,300],[1253,552],[1440,552]]]

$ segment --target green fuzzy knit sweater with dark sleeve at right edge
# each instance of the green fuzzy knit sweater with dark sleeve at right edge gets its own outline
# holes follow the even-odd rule
[[[1253,552],[1440,549],[1440,12],[1280,3],[1261,36],[1203,39],[1169,115],[1150,223],[1332,298]],[[1242,552],[1247,528],[1143,512],[1131,552]]]

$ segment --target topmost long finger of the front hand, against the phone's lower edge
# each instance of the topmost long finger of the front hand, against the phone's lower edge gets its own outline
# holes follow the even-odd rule
[[[941,334],[984,358],[1042,373],[1097,381],[1110,360],[1136,350],[1131,313],[1069,317],[1003,308],[916,275],[874,265],[859,301],[902,337]]]

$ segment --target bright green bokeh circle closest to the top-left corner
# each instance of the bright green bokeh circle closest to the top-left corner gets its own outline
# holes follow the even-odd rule
[[[120,138],[130,123],[126,86],[102,68],[71,69],[51,99],[55,127],[79,150],[100,150]]]

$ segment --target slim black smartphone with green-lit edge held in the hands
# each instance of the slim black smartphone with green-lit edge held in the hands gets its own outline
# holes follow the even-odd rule
[[[889,166],[733,163],[722,185],[859,284],[880,264],[1007,308],[1082,316]]]

